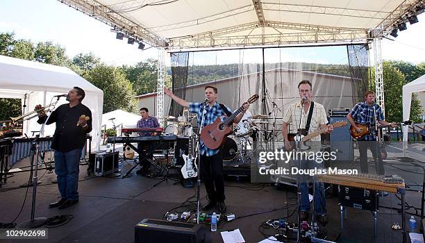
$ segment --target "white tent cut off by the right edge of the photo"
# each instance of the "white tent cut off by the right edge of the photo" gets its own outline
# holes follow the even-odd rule
[[[425,75],[403,85],[403,121],[410,119],[410,103],[412,93],[425,91]],[[408,126],[403,127],[403,141],[408,140]]]

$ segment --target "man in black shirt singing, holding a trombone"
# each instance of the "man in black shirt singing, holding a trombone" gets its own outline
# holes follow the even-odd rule
[[[56,122],[51,149],[54,150],[55,172],[62,197],[59,201],[51,203],[50,208],[68,208],[78,202],[81,150],[86,142],[86,135],[92,131],[92,112],[81,103],[84,97],[84,90],[74,87],[67,94],[69,103],[53,110],[47,121],[47,125]],[[40,108],[41,105],[35,106],[35,110]],[[40,111],[37,122],[43,124],[46,119],[47,115]]]

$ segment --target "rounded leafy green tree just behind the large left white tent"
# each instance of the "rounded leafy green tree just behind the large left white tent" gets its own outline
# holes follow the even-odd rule
[[[90,70],[87,80],[103,90],[103,113],[117,109],[135,112],[135,92],[121,69],[101,63]]]

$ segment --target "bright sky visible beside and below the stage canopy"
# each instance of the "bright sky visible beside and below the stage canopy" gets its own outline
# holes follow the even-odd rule
[[[425,14],[419,15],[419,23],[399,32],[395,41],[383,40],[382,55],[385,60],[405,60],[418,63],[425,61]],[[110,65],[134,65],[147,58],[157,58],[154,48],[141,51],[137,44],[116,40],[110,27],[82,12],[69,8],[56,0],[1,0],[0,32],[14,31],[17,38],[33,42],[52,41],[65,47],[67,55],[92,52]],[[392,37],[391,37],[392,38]],[[273,50],[273,51],[272,51]],[[322,47],[266,51],[272,61],[301,60],[304,62],[347,63],[345,47]],[[194,62],[199,64],[222,64],[257,62],[261,51],[233,50],[228,53],[195,53]],[[373,62],[373,55],[371,55]],[[266,60],[267,61],[267,60]]]

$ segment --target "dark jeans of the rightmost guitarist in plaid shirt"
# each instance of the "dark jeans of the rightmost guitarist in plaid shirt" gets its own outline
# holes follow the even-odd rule
[[[376,141],[358,141],[358,150],[360,152],[360,169],[362,173],[369,173],[369,165],[367,165],[367,149],[370,149],[375,160],[376,174],[385,174],[383,162],[381,158],[381,146]]]

